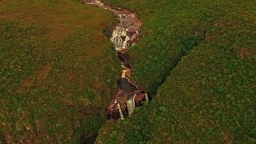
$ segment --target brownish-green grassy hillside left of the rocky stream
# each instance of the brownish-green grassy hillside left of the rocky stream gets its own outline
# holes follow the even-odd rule
[[[117,87],[102,33],[115,23],[110,11],[75,1],[0,1],[0,141],[94,139]]]

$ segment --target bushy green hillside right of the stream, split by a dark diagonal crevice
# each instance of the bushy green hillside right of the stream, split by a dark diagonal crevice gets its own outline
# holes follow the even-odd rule
[[[143,20],[131,50],[136,82],[154,94],[167,79],[97,143],[256,142],[255,2],[105,2]]]

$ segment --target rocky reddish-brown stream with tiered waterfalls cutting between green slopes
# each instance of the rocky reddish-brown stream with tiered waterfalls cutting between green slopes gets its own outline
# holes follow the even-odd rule
[[[143,101],[147,102],[149,100],[147,93],[139,89],[135,82],[131,80],[133,68],[127,59],[125,59],[129,48],[139,41],[141,21],[138,19],[137,14],[130,10],[113,8],[99,0],[85,0],[84,3],[110,10],[120,21],[113,28],[110,38],[120,62],[119,88],[117,89],[117,93],[113,95],[107,115],[108,119],[124,119],[125,117],[131,116],[136,106],[141,106]]]

